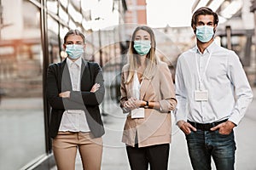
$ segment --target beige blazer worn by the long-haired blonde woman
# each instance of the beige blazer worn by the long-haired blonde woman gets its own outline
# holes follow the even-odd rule
[[[125,84],[128,69],[129,65],[125,65],[121,74],[121,107],[123,107],[125,100],[131,98],[133,82]],[[175,99],[172,74],[166,63],[159,62],[157,71],[151,80],[144,78],[140,88],[140,99],[160,102],[161,111],[144,109],[144,118],[136,119],[131,119],[131,114],[128,114],[122,141],[134,146],[137,132],[139,147],[171,143],[172,116],[170,111],[175,109],[177,100]]]

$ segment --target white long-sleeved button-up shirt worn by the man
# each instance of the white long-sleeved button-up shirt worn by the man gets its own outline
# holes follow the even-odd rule
[[[200,82],[201,90],[207,91],[208,97],[196,101],[195,90],[199,90]],[[237,125],[253,99],[238,56],[215,42],[204,54],[195,47],[179,56],[175,86],[177,122],[208,123],[229,119]]]

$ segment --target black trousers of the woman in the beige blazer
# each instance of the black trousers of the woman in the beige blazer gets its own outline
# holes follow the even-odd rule
[[[138,148],[126,146],[131,170],[167,170],[170,144],[157,144]]]

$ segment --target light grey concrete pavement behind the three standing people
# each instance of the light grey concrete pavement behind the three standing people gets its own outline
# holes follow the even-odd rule
[[[253,102],[249,106],[246,116],[240,125],[235,128],[237,147],[236,170],[256,170],[256,88],[253,88],[253,94]],[[122,115],[118,104],[113,105],[113,101],[111,103],[105,103],[103,110],[108,113],[108,116],[103,116],[106,134],[103,137],[102,170],[128,170],[130,167],[125,152],[125,144],[120,142],[125,115]],[[76,162],[76,170],[82,170],[79,154]],[[172,126],[172,144],[168,169],[192,169],[189,162],[186,140],[183,133],[174,123]],[[212,169],[216,169],[213,163]],[[56,170],[56,167],[51,170]]]

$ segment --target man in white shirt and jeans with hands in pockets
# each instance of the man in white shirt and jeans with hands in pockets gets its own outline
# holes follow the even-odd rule
[[[252,89],[235,52],[214,42],[218,15],[199,8],[191,26],[196,47],[177,59],[175,116],[185,133],[189,157],[195,170],[233,170],[236,127],[253,99]]]

